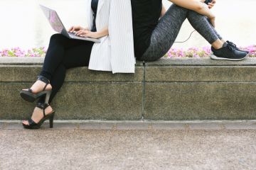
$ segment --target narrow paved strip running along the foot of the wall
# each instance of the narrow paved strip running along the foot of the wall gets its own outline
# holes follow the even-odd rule
[[[256,130],[256,120],[193,120],[193,121],[106,121],[106,120],[54,120],[42,128],[48,130]],[[1,120],[0,129],[26,130],[21,120]]]

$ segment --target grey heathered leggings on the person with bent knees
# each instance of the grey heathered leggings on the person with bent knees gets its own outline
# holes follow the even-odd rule
[[[181,30],[183,22],[188,18],[191,26],[200,33],[210,44],[222,38],[208,22],[206,16],[181,6],[172,4],[151,35],[151,42],[139,60],[152,62],[163,57],[168,52]]]

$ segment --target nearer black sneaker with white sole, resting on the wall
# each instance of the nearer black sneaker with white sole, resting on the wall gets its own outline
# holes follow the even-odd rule
[[[223,47],[221,47],[220,49],[215,50],[213,47],[211,47],[211,50],[213,51],[213,54],[210,55],[210,58],[213,60],[238,61],[243,60],[245,59],[245,57],[247,57],[246,52],[235,50],[235,47],[228,44],[227,42],[225,42],[223,44]]]

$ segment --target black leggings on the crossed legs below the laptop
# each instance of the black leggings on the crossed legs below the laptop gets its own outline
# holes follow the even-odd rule
[[[61,34],[54,34],[43,62],[42,72],[39,74],[50,80],[53,87],[49,103],[53,100],[65,79],[67,69],[88,66],[94,42],[74,40]],[[44,103],[45,96],[38,102]]]

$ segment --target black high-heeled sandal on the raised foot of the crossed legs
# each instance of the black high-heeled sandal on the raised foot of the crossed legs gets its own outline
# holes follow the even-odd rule
[[[43,81],[44,83],[46,83],[46,86],[50,84],[50,81],[46,79],[46,77],[38,76],[37,80]],[[44,86],[43,91],[38,92],[37,94],[33,94],[32,89],[28,89],[28,91],[21,90],[20,91],[21,98],[23,98],[25,101],[33,103],[34,101],[36,101],[37,98],[40,98],[41,96],[46,95],[46,103],[48,103],[51,90],[50,91],[46,90],[46,86]]]

